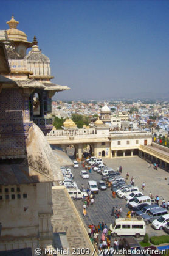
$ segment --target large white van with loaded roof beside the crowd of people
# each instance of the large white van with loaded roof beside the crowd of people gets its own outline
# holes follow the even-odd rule
[[[110,225],[110,230],[113,237],[133,235],[139,238],[139,236],[145,235],[145,227],[145,222],[140,217],[119,218]]]

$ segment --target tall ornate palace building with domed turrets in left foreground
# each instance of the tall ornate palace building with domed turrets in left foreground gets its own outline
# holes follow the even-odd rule
[[[53,127],[51,98],[69,87],[50,82],[36,38],[27,41],[13,16],[7,24],[0,31],[0,251],[35,255],[36,247],[52,247],[52,183],[63,180],[44,136]]]

